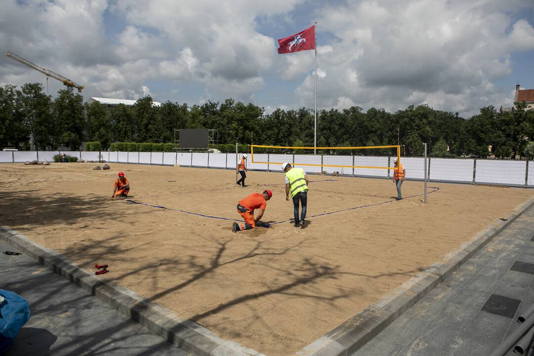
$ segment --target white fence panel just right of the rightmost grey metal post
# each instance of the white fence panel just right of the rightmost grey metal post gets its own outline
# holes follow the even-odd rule
[[[474,163],[475,160],[470,159],[432,158],[430,159],[430,180],[471,182]]]

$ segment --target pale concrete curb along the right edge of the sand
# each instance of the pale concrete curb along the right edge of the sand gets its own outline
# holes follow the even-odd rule
[[[534,198],[515,208],[506,221],[497,220],[476,234],[473,239],[462,244],[457,251],[447,254],[441,262],[428,266],[424,271],[389,292],[378,302],[304,347],[296,355],[350,356],[373,337],[380,334],[380,331],[417,303],[438,283],[456,271],[532,205],[534,205]]]

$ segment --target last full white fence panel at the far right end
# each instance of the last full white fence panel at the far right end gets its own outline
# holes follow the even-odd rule
[[[525,185],[526,161],[476,160],[475,182]]]

